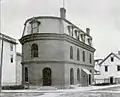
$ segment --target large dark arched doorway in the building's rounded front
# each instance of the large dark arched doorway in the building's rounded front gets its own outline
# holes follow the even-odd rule
[[[51,86],[52,84],[52,71],[50,68],[43,69],[43,86]]]

